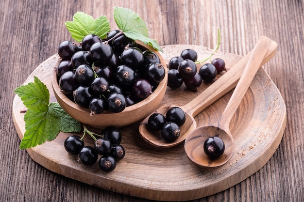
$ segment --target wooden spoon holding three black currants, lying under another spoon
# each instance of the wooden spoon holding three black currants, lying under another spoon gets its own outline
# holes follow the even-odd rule
[[[273,57],[277,50],[277,47],[277,43],[271,41],[270,47],[268,48],[268,51],[260,67]],[[151,114],[147,116],[139,125],[139,133],[141,137],[149,144],[162,148],[169,148],[184,141],[187,135],[193,129],[196,128],[196,122],[193,117],[198,115],[201,111],[203,111],[203,109],[206,109],[215,101],[220,99],[220,97],[222,97],[223,95],[231,91],[234,87],[236,87],[236,83],[241,77],[241,74],[244,71],[244,67],[248,62],[250,56],[251,52],[244,56],[244,58],[237,62],[231,69],[229,69],[217,81],[215,81],[212,85],[210,85],[207,89],[200,93],[196,98],[194,98],[188,104],[180,107],[186,112],[186,122],[181,126],[181,135],[177,140],[175,140],[174,142],[168,142],[160,136],[158,131],[151,130],[148,126],[148,119]],[[169,103],[166,103],[159,109],[156,109],[156,111],[161,114],[166,114],[167,110],[172,107],[178,106],[173,106]]]

